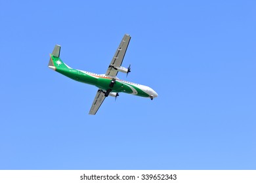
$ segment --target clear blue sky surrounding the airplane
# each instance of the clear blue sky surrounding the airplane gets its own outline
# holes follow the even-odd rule
[[[256,1],[0,1],[0,169],[256,169]],[[97,88],[47,67],[60,58],[158,97]]]

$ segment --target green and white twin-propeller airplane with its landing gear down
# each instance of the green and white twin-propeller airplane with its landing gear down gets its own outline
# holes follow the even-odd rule
[[[91,84],[98,88],[89,112],[89,114],[92,115],[96,114],[98,108],[100,108],[100,105],[102,105],[106,97],[117,97],[121,92],[140,97],[149,97],[152,100],[155,97],[158,97],[158,93],[156,93],[152,88],[117,78],[118,72],[126,73],[127,75],[131,72],[131,65],[129,65],[128,68],[121,67],[130,40],[131,36],[125,34],[116,50],[116,53],[114,54],[114,57],[112,58],[112,61],[110,62],[110,65],[108,66],[106,74],[103,75],[79,69],[72,69],[66,65],[66,63],[60,59],[60,45],[58,44],[54,46],[53,53],[50,54],[48,67],[64,76],[72,78],[73,80],[83,82],[85,84]]]

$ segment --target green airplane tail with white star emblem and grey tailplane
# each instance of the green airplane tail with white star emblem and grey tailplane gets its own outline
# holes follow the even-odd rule
[[[60,59],[60,45],[56,44],[53,53],[50,54],[50,61],[48,64],[48,67],[50,69],[53,69],[56,71],[56,68],[60,69],[71,69],[71,67],[68,67],[61,59]]]

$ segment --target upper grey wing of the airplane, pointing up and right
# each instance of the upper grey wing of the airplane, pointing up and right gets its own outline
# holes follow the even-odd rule
[[[106,75],[113,76],[113,77],[117,75],[118,71],[114,69],[114,67],[121,66],[130,40],[131,40],[131,36],[125,34],[116,50],[116,54],[114,55],[114,57],[112,58],[112,61],[110,62],[108,71],[106,71]]]

